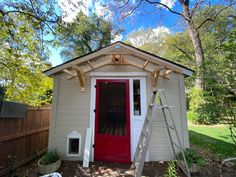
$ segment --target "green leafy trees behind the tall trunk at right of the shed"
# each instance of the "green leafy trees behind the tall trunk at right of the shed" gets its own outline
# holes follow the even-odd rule
[[[201,21],[215,7],[205,7],[194,17]],[[192,89],[193,78],[190,77],[186,86],[190,91],[190,113],[197,123],[230,123],[233,122],[233,103],[236,101],[235,75],[235,10],[228,8],[222,12],[214,23],[206,23],[199,29],[202,36],[202,46],[205,52],[205,88],[204,91]],[[196,68],[194,48],[187,31],[167,35],[162,45],[153,42],[146,43],[140,48],[154,52],[188,67]],[[160,52],[161,51],[161,52]],[[188,92],[189,93],[189,92]],[[230,121],[226,121],[230,118]],[[229,124],[233,125],[233,124]]]

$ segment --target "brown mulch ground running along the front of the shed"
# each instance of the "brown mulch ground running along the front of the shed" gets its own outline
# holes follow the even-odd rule
[[[193,177],[236,177],[236,164],[228,163],[222,166],[222,160],[214,154],[197,146],[193,148],[206,159],[206,166],[201,172],[192,174]],[[147,162],[145,163],[142,176],[163,177],[167,171],[167,163]],[[63,177],[130,177],[133,176],[129,170],[130,164],[119,164],[109,162],[90,163],[89,168],[82,168],[82,162],[62,161],[58,170]],[[9,175],[10,176],[10,175]],[[37,159],[26,164],[16,171],[17,177],[38,177]],[[183,172],[178,171],[179,177],[184,177]]]

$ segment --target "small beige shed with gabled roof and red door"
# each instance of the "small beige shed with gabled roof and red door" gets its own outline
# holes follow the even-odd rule
[[[66,160],[82,160],[86,129],[92,130],[90,161],[132,161],[153,89],[164,89],[180,140],[189,147],[184,78],[180,64],[116,42],[53,67],[49,148]],[[174,158],[163,115],[153,112],[146,161]]]

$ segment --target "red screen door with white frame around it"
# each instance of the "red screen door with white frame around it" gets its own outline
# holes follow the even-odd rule
[[[94,158],[129,163],[129,80],[97,80]]]

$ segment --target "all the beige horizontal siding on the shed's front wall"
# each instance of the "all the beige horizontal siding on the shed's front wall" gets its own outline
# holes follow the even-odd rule
[[[133,66],[105,66],[94,72],[139,72],[142,71]],[[85,92],[81,92],[80,84],[77,78],[67,80],[66,74],[60,73],[54,77],[54,92],[52,106],[52,120],[49,135],[49,148],[56,148],[63,159],[78,160],[66,157],[66,137],[73,130],[81,133],[82,146],[81,155],[83,155],[85,133],[89,127],[90,118],[90,77],[86,75]],[[128,77],[127,77],[128,78]],[[152,95],[151,77],[147,77],[147,103]],[[185,146],[189,146],[186,104],[184,91],[184,77],[182,74],[174,73],[171,79],[159,78],[157,88],[165,89],[173,116],[178,127],[181,141]],[[154,111],[153,134],[149,146],[150,161],[173,159],[171,146],[167,131],[163,125],[163,116],[160,111]],[[82,156],[79,160],[82,160]]]

